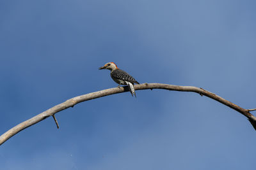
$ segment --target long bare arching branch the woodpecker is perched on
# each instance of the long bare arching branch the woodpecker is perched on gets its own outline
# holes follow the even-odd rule
[[[241,108],[240,106],[237,106],[234,103],[231,103],[230,101],[227,101],[226,99],[223,99],[220,96],[217,96],[216,94],[213,94],[212,92],[209,92],[207,90],[204,90],[202,88],[198,87],[192,87],[192,86],[179,86],[179,85],[168,85],[168,84],[161,84],[161,83],[144,83],[140,85],[134,85],[135,90],[145,90],[145,89],[165,89],[165,90],[173,90],[173,91],[182,91],[182,92],[196,92],[200,94],[201,96],[207,96],[211,99],[214,99],[215,101],[218,101],[222,104],[225,104],[226,106],[232,108],[233,110],[238,111],[244,117],[248,118],[248,120],[253,125],[254,129],[256,130],[256,117],[254,117],[250,111],[252,110],[246,110],[244,108]],[[2,145],[5,141],[10,139],[12,136],[17,134],[18,132],[26,129],[27,127],[37,124],[38,122],[44,120],[47,117],[54,116],[55,113],[58,113],[61,110],[65,110],[67,108],[73,107],[74,105],[81,103],[83,101],[89,101],[92,99],[97,99],[99,97],[109,96],[111,94],[118,94],[122,92],[129,92],[128,87],[116,87],[106,90],[100,90],[98,92],[92,92],[90,94],[84,94],[82,96],[73,97],[72,99],[68,99],[67,101],[58,104],[49,110],[46,110],[39,115],[36,115],[33,118],[30,118],[29,120],[26,120],[19,125],[16,125],[9,131],[5,132],[0,136],[0,145]],[[58,125],[58,123],[56,122]]]

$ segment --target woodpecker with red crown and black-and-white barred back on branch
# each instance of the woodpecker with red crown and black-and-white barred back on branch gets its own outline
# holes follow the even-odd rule
[[[108,62],[104,66],[99,67],[99,69],[109,69],[111,71],[110,76],[116,83],[118,83],[118,87],[120,87],[120,85],[128,85],[132,96],[134,94],[136,97],[133,85],[134,83],[140,83],[138,83],[138,81],[136,81],[130,74],[119,69],[114,62]]]

